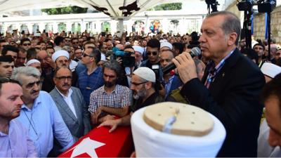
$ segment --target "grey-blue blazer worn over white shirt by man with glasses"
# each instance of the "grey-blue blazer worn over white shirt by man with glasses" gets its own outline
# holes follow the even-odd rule
[[[84,136],[91,130],[91,123],[88,109],[79,88],[75,88],[73,86],[71,88],[73,91],[71,98],[77,118],[74,116],[70,107],[63,99],[63,96],[60,95],[56,88],[53,88],[50,95],[55,101],[55,105],[57,105],[67,128],[70,129],[70,133],[72,133],[72,136],[77,139]]]

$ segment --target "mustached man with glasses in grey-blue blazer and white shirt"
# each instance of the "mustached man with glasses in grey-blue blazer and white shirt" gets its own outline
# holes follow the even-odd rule
[[[55,88],[50,95],[60,111],[63,121],[74,140],[78,140],[91,130],[88,108],[79,88],[72,85],[72,72],[68,67],[59,67],[53,77]],[[58,156],[60,145],[55,142],[53,157]]]

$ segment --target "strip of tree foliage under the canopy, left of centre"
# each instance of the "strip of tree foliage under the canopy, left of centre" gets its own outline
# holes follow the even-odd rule
[[[59,15],[59,14],[72,14],[72,13],[86,13],[87,8],[80,8],[79,6],[66,6],[62,8],[46,8],[46,9],[41,9],[41,11],[48,13],[48,15]]]

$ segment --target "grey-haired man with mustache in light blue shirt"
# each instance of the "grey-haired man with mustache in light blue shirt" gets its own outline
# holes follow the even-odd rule
[[[74,142],[63,118],[51,96],[40,91],[40,72],[34,67],[17,67],[13,70],[12,79],[22,84],[23,105],[20,110],[20,121],[34,141],[39,157],[47,157],[53,148],[53,140],[58,140],[63,150]]]

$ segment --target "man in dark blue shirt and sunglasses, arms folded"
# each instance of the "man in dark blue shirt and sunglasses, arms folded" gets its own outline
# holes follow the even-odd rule
[[[87,48],[81,61],[86,65],[86,70],[79,74],[78,86],[84,96],[86,105],[89,106],[91,92],[103,86],[103,72],[101,67],[97,65],[100,61],[100,51]]]

